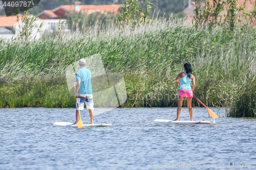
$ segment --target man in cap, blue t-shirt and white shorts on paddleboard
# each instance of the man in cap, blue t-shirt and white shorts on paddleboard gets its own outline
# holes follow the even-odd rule
[[[79,112],[84,108],[84,102],[86,103],[86,108],[89,110],[90,117],[91,117],[91,124],[93,124],[93,90],[92,90],[92,72],[91,70],[87,69],[86,60],[80,59],[79,60],[80,69],[76,73],[76,90],[75,96],[78,101],[78,108]],[[78,124],[79,120],[79,112],[76,105],[76,122],[73,125]]]

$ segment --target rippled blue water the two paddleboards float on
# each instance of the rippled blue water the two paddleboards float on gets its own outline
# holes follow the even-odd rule
[[[254,118],[169,126],[156,125],[154,119],[175,119],[176,108],[117,108],[94,117],[95,123],[113,127],[76,129],[53,127],[54,122],[73,122],[73,108],[6,108],[0,113],[0,169],[154,169],[161,164],[166,169],[195,169],[195,164],[230,169],[228,163],[248,168],[245,163],[256,162]],[[81,116],[84,124],[90,122],[88,112]],[[194,108],[194,120],[202,119],[213,122],[205,108]],[[187,108],[180,120],[189,120]]]

